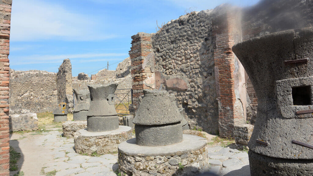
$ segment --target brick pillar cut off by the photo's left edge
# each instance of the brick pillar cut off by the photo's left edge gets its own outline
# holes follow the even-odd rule
[[[0,1],[0,176],[9,172],[9,46],[12,0]]]

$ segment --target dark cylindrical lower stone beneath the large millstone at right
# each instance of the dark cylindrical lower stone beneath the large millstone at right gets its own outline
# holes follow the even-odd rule
[[[311,176],[313,159],[272,158],[249,150],[251,176]]]

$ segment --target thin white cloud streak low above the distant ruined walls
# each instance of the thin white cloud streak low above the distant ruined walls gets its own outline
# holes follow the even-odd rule
[[[109,60],[121,60],[118,59],[103,59],[103,57],[119,57],[126,58],[128,54],[125,53],[86,53],[86,54],[61,54],[61,55],[31,55],[23,57],[11,57],[10,60],[12,65],[29,65],[29,64],[51,64],[51,63],[62,63],[66,58],[69,58],[74,63],[85,63],[85,62],[98,62],[98,61],[109,61]],[[102,58],[99,58],[102,57]],[[99,59],[91,59],[99,58]],[[80,59],[80,60],[76,60]]]

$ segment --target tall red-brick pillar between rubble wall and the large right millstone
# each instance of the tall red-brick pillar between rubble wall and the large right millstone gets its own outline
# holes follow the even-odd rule
[[[244,118],[242,108],[238,109],[235,95],[235,54],[232,47],[235,44],[234,33],[237,19],[232,13],[216,17],[213,22],[213,40],[215,75],[218,91],[218,130],[221,137],[233,137],[237,118]],[[238,37],[238,36],[237,36]],[[242,113],[239,113],[242,112]]]

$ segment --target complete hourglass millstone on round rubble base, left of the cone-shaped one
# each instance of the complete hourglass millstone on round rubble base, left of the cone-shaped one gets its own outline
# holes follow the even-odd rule
[[[112,131],[119,127],[114,106],[116,87],[117,84],[88,85],[91,102],[87,113],[87,131]]]

